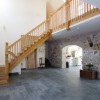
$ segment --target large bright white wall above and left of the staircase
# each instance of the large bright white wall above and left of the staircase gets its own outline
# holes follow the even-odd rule
[[[46,19],[45,0],[0,0],[0,65],[10,44]]]

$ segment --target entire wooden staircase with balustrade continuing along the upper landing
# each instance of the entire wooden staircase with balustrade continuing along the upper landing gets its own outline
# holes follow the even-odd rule
[[[81,0],[67,0],[60,8],[58,8],[49,19],[42,22],[27,34],[21,36],[20,39],[13,44],[6,43],[5,63],[6,72],[1,68],[1,83],[7,83],[8,73],[15,68],[25,57],[37,49],[42,43],[48,40],[52,32],[66,28],[84,21],[88,18],[100,14],[100,9],[87,4]]]

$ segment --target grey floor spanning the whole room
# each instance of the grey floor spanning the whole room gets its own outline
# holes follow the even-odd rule
[[[77,68],[26,70],[0,87],[0,100],[100,100],[100,80],[81,79]]]

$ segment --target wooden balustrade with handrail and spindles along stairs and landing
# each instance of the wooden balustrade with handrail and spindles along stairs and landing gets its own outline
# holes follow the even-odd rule
[[[9,46],[6,44],[6,65],[8,66],[9,62],[16,59],[20,53],[23,53],[28,47],[38,41],[42,34],[47,34],[50,30],[55,32],[65,27],[69,29],[71,25],[96,14],[100,14],[100,9],[81,0],[67,0],[52,13],[49,19],[43,21],[13,44]]]

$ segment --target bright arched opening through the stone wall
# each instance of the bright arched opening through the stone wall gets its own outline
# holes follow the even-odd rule
[[[82,69],[82,48],[77,45],[62,48],[62,68],[71,67]]]

